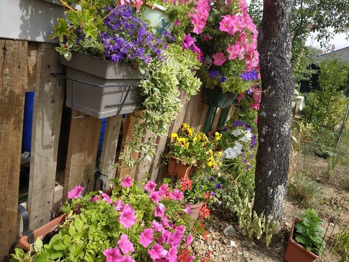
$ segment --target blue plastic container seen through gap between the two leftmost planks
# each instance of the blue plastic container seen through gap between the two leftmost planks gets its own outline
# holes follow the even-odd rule
[[[22,152],[31,151],[31,127],[33,124],[33,106],[34,106],[34,92],[25,92],[23,133],[22,133]]]

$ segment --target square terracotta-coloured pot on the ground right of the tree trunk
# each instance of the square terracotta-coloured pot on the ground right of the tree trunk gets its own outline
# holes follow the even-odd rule
[[[293,232],[296,221],[301,221],[300,218],[294,217],[290,237],[288,239],[287,248],[285,252],[285,260],[288,262],[312,262],[319,259],[313,252],[307,251],[302,245],[293,240]]]

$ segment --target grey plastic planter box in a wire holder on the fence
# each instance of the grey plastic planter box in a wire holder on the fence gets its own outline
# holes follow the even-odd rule
[[[145,78],[138,68],[131,64],[113,63],[86,54],[72,52],[70,61],[61,56],[61,63],[67,67],[67,77],[104,87],[97,87],[74,81],[73,109],[96,118],[117,115],[120,105],[129,94],[120,114],[144,109],[139,82]],[[127,86],[115,86],[127,85]],[[112,87],[109,87],[112,86]],[[72,108],[72,81],[67,79],[66,106]]]

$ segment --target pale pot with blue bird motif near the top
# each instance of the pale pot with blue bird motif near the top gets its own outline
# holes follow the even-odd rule
[[[172,28],[174,28],[173,19],[165,11],[166,7],[159,4],[154,4],[153,6],[144,5],[144,9],[141,11],[143,16],[155,27],[160,37],[163,36],[165,31],[171,32]]]

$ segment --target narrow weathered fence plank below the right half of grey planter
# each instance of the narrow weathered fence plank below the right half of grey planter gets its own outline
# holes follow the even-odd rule
[[[104,190],[109,188],[110,180],[116,176],[116,169],[113,168],[113,165],[115,164],[115,154],[118,146],[121,119],[122,115],[111,116],[107,119],[102,146],[101,162],[99,164],[99,172],[105,175],[103,176]]]

